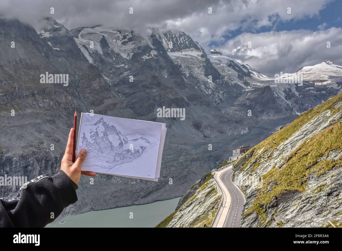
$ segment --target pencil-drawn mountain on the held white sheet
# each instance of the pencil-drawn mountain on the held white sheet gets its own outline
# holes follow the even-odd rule
[[[143,153],[148,155],[148,150],[153,148],[159,140],[156,139],[157,142],[151,143],[143,136],[134,138],[136,134],[132,132],[130,132],[131,139],[128,139],[114,125],[104,122],[103,117],[93,125],[84,126],[89,128],[89,132],[87,135],[83,132],[81,137],[80,147],[87,149],[87,161],[83,166],[109,169],[103,172],[109,172],[117,165],[131,162]],[[149,136],[151,137],[153,136]]]

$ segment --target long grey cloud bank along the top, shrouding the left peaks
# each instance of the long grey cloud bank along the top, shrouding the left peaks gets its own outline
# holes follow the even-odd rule
[[[115,28],[146,30],[148,26],[179,29],[206,46],[222,41],[222,36],[241,28],[253,31],[318,15],[331,0],[1,0],[0,12],[37,25],[42,16],[51,16],[68,29],[103,24]],[[55,14],[50,14],[50,8]],[[133,14],[129,14],[129,8]],[[208,14],[208,8],[212,14]],[[287,14],[287,8],[291,14]]]

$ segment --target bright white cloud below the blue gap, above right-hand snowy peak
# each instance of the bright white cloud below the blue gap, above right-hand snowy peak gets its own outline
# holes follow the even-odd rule
[[[327,42],[331,48],[327,48]],[[242,33],[218,48],[239,62],[274,76],[325,60],[342,65],[342,29]],[[248,48],[248,42],[252,47]]]

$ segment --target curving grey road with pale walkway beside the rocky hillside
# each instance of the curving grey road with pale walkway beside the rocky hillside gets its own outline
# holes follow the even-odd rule
[[[233,183],[231,176],[233,165],[215,171],[215,180],[223,192],[223,207],[220,207],[213,227],[240,227],[241,215],[244,209],[245,196]]]

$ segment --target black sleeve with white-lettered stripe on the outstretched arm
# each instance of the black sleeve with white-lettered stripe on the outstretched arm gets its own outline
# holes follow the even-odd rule
[[[0,198],[0,227],[44,227],[77,201],[76,189],[62,170],[30,180],[17,198]]]

